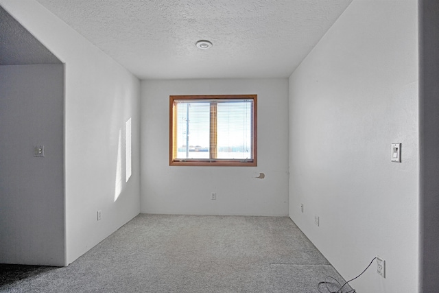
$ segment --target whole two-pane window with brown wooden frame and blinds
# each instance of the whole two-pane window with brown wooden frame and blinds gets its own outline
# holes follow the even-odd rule
[[[256,166],[257,95],[171,95],[169,165]]]

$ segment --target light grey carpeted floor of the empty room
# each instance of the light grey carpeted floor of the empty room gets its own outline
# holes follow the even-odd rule
[[[318,293],[327,276],[344,282],[289,218],[141,214],[66,268],[0,264],[0,292]]]

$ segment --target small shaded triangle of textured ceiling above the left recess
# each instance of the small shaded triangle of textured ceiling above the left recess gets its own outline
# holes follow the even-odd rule
[[[50,63],[61,62],[0,7],[0,65]]]

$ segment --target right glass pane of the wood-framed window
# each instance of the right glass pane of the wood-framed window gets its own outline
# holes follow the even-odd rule
[[[252,159],[252,102],[217,104],[217,159]]]

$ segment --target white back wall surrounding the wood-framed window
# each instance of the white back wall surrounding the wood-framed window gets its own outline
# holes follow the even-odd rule
[[[225,94],[258,95],[258,166],[169,166],[169,95]],[[142,213],[288,214],[287,79],[148,80],[141,95]]]

